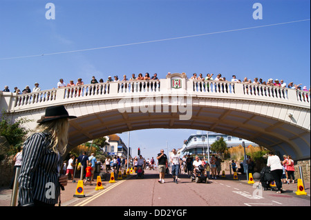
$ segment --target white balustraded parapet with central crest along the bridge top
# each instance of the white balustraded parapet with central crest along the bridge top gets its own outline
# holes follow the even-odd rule
[[[12,92],[0,92],[0,107],[7,112],[19,112],[81,101],[122,99],[131,95],[147,97],[149,95],[186,94],[222,99],[278,101],[289,106],[310,108],[310,92],[303,90],[229,81],[199,81],[179,77],[180,75],[172,74],[172,77],[159,80],[87,84],[19,95]]]

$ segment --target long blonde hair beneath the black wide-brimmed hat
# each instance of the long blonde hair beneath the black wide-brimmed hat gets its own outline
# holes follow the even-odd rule
[[[39,123],[34,132],[48,132],[52,135],[50,149],[63,155],[68,143],[68,119],[57,119]]]

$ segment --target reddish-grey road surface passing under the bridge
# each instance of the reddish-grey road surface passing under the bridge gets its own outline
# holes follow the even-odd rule
[[[176,184],[169,176],[165,183],[158,183],[158,171],[146,170],[144,179],[131,175],[63,206],[310,206],[310,195],[297,196],[293,190],[286,190],[287,185],[283,187],[285,193],[276,194],[256,188],[256,183],[232,178],[195,183],[181,174]]]

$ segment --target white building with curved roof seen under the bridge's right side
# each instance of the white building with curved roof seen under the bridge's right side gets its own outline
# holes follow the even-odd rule
[[[209,139],[207,141],[207,134],[202,134],[200,131],[197,134],[191,134],[190,137],[184,141],[184,145],[180,152],[182,154],[207,154],[207,143],[209,148],[211,148],[211,144],[215,141],[218,141],[220,137],[223,137],[224,141],[227,143],[227,148],[232,148],[235,146],[242,146],[242,142],[245,142],[245,147],[252,145],[254,147],[258,146],[258,144],[248,141],[245,139],[241,139],[238,137],[234,137],[227,134],[220,134],[216,132],[208,132]]]

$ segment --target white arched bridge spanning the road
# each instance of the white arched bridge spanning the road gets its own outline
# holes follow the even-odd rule
[[[166,79],[118,81],[44,90],[0,92],[12,120],[32,119],[48,106],[70,115],[69,148],[104,135],[149,128],[209,130],[258,143],[279,155],[310,159],[310,92],[227,81]],[[183,137],[180,137],[181,139]]]

